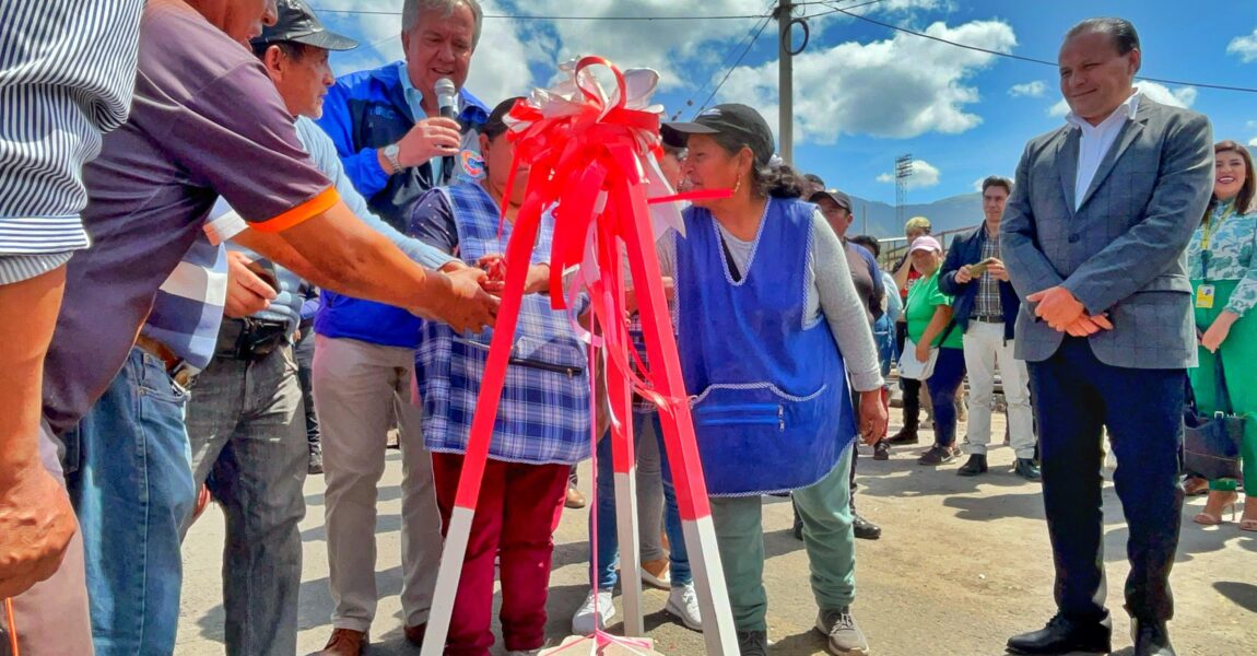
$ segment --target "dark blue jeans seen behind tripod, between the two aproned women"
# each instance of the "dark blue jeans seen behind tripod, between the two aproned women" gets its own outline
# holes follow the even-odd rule
[[[659,452],[667,469],[667,450],[662,444],[662,429],[659,425],[659,413],[642,415],[634,412],[634,437],[640,442],[641,434],[646,430],[646,422],[651,422],[655,429],[656,440],[660,441]],[[598,524],[593,525],[593,515],[590,515],[590,533],[598,537],[598,589],[611,589],[618,581],[616,567],[620,564],[620,539],[616,533],[616,478],[611,455],[611,437],[605,436],[598,441]],[[685,552],[685,535],[681,533],[681,514],[676,509],[676,489],[664,476],[664,532],[667,533],[667,544],[671,552],[671,579],[674,586],[689,584],[694,581],[690,574],[690,557]]]

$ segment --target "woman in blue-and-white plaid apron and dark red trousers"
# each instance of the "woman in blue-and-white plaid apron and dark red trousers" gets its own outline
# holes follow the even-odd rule
[[[507,189],[514,148],[505,137],[503,117],[513,104],[514,99],[500,103],[481,129],[483,180],[432,190],[411,214],[414,236],[470,264],[494,260],[505,251],[528,185],[528,172],[520,168],[514,187]],[[469,163],[475,165],[470,168],[480,168],[479,162]],[[507,206],[507,222],[499,238],[502,205]],[[553,222],[543,219],[528,292],[547,288],[552,236]],[[432,451],[436,501],[446,528],[491,339],[491,329],[460,334],[444,323],[425,322],[415,358],[424,442]],[[568,473],[591,455],[586,358],[567,312],[551,309],[548,297],[525,294],[471,520],[446,655],[489,655],[494,642],[490,626],[495,557],[502,582],[498,617],[508,653],[535,653],[544,643],[553,533],[567,496]]]

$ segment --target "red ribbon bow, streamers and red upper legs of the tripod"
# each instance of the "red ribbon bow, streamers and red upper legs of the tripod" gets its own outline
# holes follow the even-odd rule
[[[590,88],[592,75],[582,75],[590,67],[605,67],[615,74],[620,93],[613,106],[605,106],[602,94]],[[507,189],[514,185],[514,171],[520,166],[529,166],[530,175],[525,200],[507,246],[505,290],[489,347],[455,504],[474,509],[479,498],[541,216],[543,210],[554,207],[549,264],[551,303],[556,309],[567,305],[562,293],[563,271],[581,265],[588,240],[595,240],[602,275],[591,282],[588,289],[593,319],[591,331],[601,333],[610,367],[606,372],[608,398],[615,416],[621,420],[612,425],[613,439],[621,444],[632,444],[628,441],[631,422],[626,421],[631,412],[631,390],[659,406],[681,519],[708,517],[710,506],[706,485],[694,441],[647,209],[650,202],[672,202],[693,196],[647,199],[640,158],[654,156],[659,150],[660,117],[625,107],[626,92],[620,70],[603,58],[587,57],[577,63],[574,75],[577,88],[585,98],[577,112],[547,117],[527,101],[519,101],[509,113],[513,126],[508,138],[514,143],[515,161]],[[606,202],[600,211],[603,194]],[[705,191],[699,195],[720,197],[729,192]],[[650,367],[641,366],[628,339],[623,312],[625,282],[618,258],[622,246],[627,249],[628,266],[637,290]],[[630,357],[639,364],[636,371],[630,366]]]

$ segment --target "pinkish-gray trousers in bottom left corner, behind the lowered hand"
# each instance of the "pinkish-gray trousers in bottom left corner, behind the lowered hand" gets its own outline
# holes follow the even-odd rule
[[[44,467],[62,479],[58,459],[60,442],[48,425],[40,427],[39,455]],[[18,648],[23,656],[92,656],[92,622],[88,617],[87,581],[83,566],[83,535],[74,532],[62,567],[48,581],[13,598]],[[8,615],[0,612],[0,655],[9,656]]]

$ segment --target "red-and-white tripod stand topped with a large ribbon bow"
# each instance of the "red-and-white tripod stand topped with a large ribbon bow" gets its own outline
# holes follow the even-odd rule
[[[591,67],[602,67],[615,77],[616,88],[610,96],[588,70]],[[654,162],[659,148],[661,108],[649,106],[649,97],[657,74],[634,70],[627,75],[626,83],[626,75],[620,69],[606,59],[593,57],[567,65],[564,70],[569,73],[569,79],[552,89],[534,90],[530,98],[519,101],[508,114],[508,138],[515,147],[515,163],[530,166],[530,175],[524,202],[507,245],[505,290],[446,530],[422,656],[439,656],[445,646],[518,324],[527,269],[537,243],[542,212],[547,209],[553,209],[554,217],[551,251],[552,307],[567,307],[563,274],[574,270],[572,294],[583,290],[590,297],[590,325],[596,334],[590,338],[591,357],[605,364],[611,411],[610,439],[615,440],[612,452],[617,481],[632,469],[634,436],[628,417],[631,392],[636,391],[660,408],[664,446],[676,488],[685,544],[703,615],[706,651],[714,655],[737,653],[733,615],[655,253],[657,235],[651,221],[650,204],[664,207],[664,204],[684,200],[670,194],[671,190],[662,183]],[[513,167],[515,168],[518,166]],[[651,183],[655,181],[659,185]],[[512,185],[513,177],[507,189]],[[669,194],[649,199],[647,187],[665,189]],[[669,209],[676,215],[675,206]],[[676,222],[679,224],[679,215]],[[650,362],[649,367],[637,362],[641,376],[630,364],[637,356],[625,322],[627,308],[621,253],[627,254]],[[632,537],[622,544],[634,545],[634,498],[623,494],[631,489],[631,484],[625,483],[625,490],[617,489],[620,534],[628,537],[631,530]],[[636,549],[632,549],[628,559],[630,566],[636,564]],[[632,591],[625,598],[625,626],[630,635],[641,635],[640,581],[635,576],[637,568],[626,567],[623,571],[634,574],[625,578],[625,589]],[[601,631],[579,645],[588,646],[588,653],[597,653],[603,646],[616,642],[634,652],[631,641],[621,642]]]

